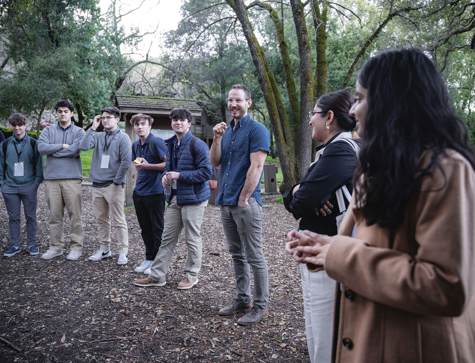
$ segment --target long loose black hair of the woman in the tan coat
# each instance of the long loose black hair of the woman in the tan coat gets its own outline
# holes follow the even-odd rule
[[[368,225],[395,229],[447,149],[461,153],[474,169],[475,156],[439,70],[420,50],[372,57],[358,81],[367,89],[368,112],[355,173],[357,205]],[[433,156],[422,168],[420,157],[427,149]]]

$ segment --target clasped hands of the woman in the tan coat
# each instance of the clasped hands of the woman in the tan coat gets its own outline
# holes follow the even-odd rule
[[[287,234],[287,238],[289,242],[285,245],[285,251],[293,256],[295,261],[321,266],[325,264],[328,248],[333,242],[331,237],[322,237],[306,229],[302,233],[292,230]],[[292,248],[295,248],[295,251]]]

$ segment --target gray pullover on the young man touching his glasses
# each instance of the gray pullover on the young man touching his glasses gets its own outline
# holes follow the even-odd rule
[[[129,170],[132,159],[132,143],[129,135],[121,132],[119,128],[110,134],[106,131],[96,133],[89,128],[79,148],[81,150],[94,148],[89,182],[113,182],[116,185],[125,183],[125,174]],[[109,155],[107,169],[101,169],[102,155]]]

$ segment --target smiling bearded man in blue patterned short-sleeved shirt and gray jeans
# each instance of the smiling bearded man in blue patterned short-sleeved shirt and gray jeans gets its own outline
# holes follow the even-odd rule
[[[234,119],[229,126],[222,122],[213,128],[209,158],[211,165],[221,165],[216,204],[221,206],[221,223],[233,258],[237,296],[232,304],[219,310],[219,315],[233,315],[251,308],[237,320],[241,325],[249,325],[269,315],[269,281],[262,252],[260,183],[270,134],[266,126],[247,115],[247,109],[252,105],[247,86],[232,86],[227,101]],[[254,305],[251,303],[249,266],[254,276]]]

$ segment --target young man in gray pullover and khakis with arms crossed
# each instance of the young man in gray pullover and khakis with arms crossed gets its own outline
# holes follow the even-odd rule
[[[59,100],[55,110],[58,124],[45,127],[38,138],[38,151],[41,155],[46,155],[45,196],[51,214],[49,249],[41,258],[50,259],[63,254],[63,218],[66,206],[71,239],[67,259],[76,260],[82,255],[84,243],[81,207],[83,164],[79,156],[79,143],[85,131],[71,120],[74,111],[71,102]]]

